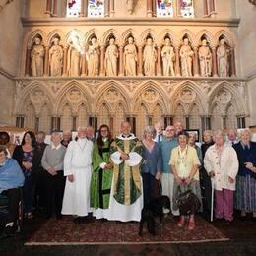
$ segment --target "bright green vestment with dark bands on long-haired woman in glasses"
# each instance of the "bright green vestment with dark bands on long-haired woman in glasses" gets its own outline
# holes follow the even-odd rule
[[[97,142],[93,151],[93,173],[91,179],[90,204],[97,209],[107,209],[112,183],[112,169],[101,169],[100,163],[109,163],[109,140],[104,142],[102,149],[98,149]]]

